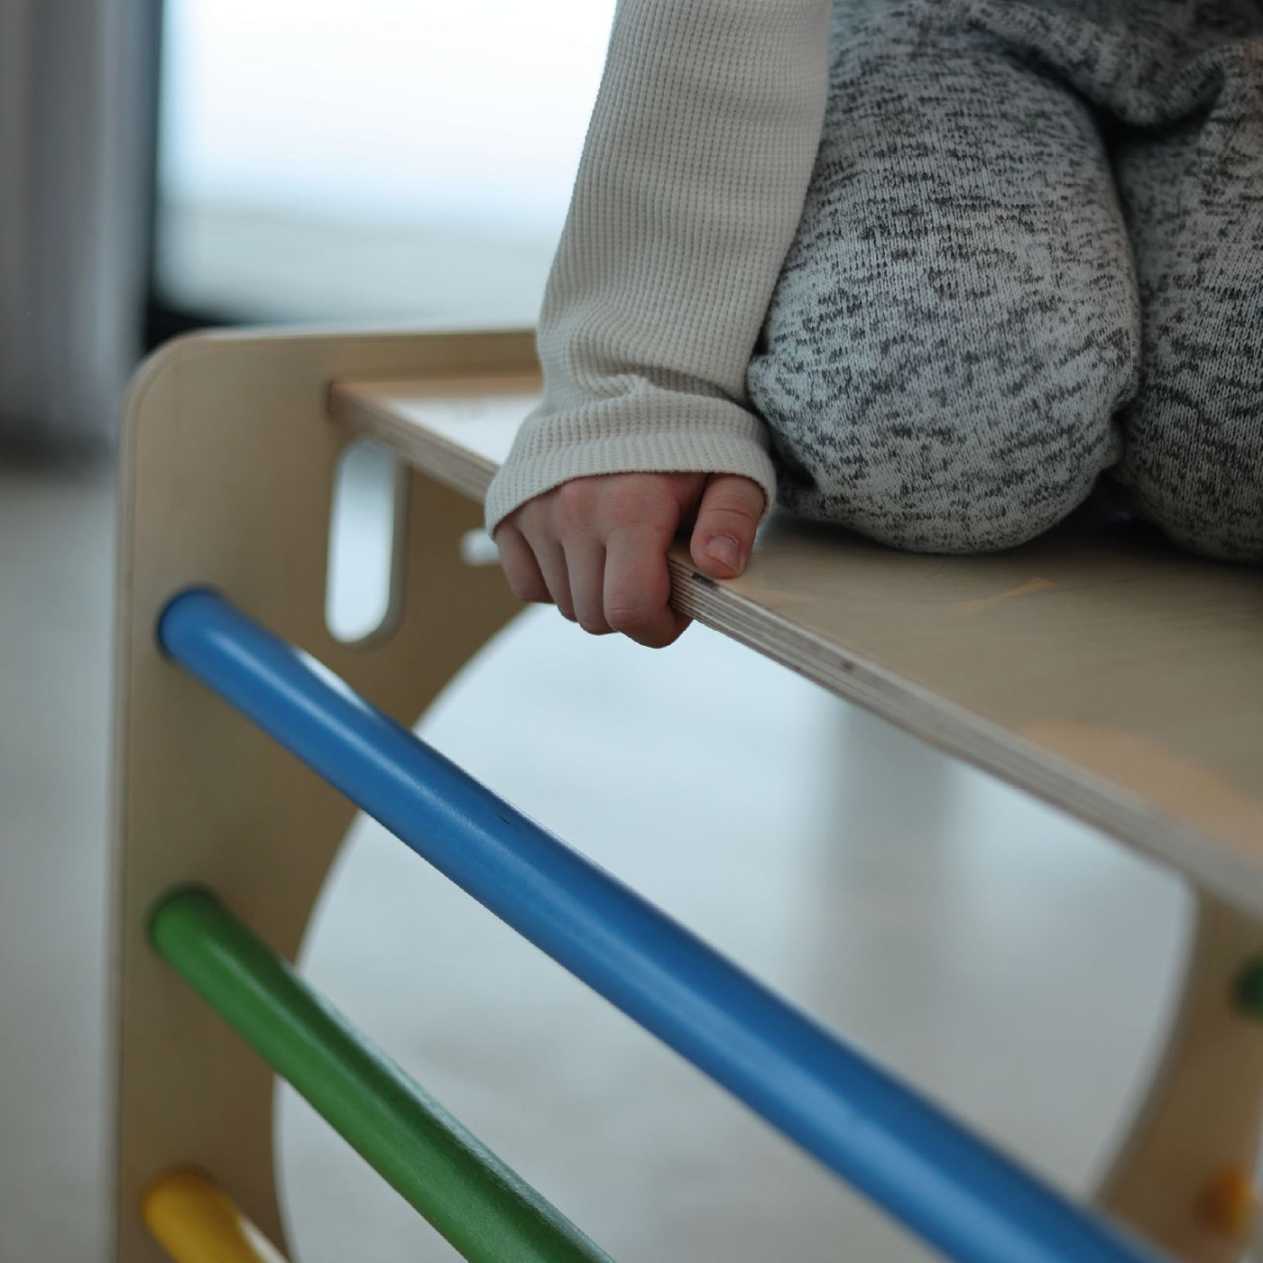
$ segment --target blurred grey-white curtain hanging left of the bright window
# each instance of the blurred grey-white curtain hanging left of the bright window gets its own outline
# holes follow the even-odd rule
[[[105,446],[140,350],[153,0],[0,0],[0,445]]]

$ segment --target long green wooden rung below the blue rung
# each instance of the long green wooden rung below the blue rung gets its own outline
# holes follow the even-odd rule
[[[153,914],[158,952],[474,1263],[610,1263],[208,890]]]

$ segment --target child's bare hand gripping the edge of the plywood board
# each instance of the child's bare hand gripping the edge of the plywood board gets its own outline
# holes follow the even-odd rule
[[[623,632],[661,649],[688,626],[667,600],[667,549],[693,523],[693,565],[740,575],[763,514],[763,489],[736,474],[601,474],[528,500],[495,542],[514,595],[553,601],[595,635]]]

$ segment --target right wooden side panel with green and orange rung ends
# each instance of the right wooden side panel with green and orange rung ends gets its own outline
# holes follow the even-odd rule
[[[1244,1233],[1209,1204],[1218,1177],[1253,1176],[1263,1119],[1263,1024],[1234,1003],[1263,925],[1199,894],[1181,1012],[1098,1202],[1187,1263],[1236,1263]],[[1242,1181],[1244,1185],[1244,1181]],[[1220,1224],[1216,1226],[1216,1219]]]

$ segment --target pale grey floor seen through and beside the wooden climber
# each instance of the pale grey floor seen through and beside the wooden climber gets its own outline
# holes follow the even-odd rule
[[[112,501],[0,471],[0,1260],[101,1258]],[[1171,1000],[1180,887],[702,629],[652,654],[549,611],[422,730],[743,965],[1075,1192]],[[927,1257],[369,825],[304,967],[615,1258]],[[453,1258],[302,1103],[304,1263]]]

